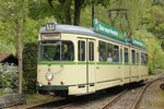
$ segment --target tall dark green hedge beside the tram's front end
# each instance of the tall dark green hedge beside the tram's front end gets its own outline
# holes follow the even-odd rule
[[[37,72],[37,44],[25,44],[23,50],[23,77],[24,90],[28,94],[36,93],[36,72]]]

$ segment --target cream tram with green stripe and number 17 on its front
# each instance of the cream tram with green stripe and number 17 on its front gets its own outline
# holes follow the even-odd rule
[[[85,95],[147,80],[147,50],[141,41],[128,43],[95,29],[55,23],[40,28],[37,62],[40,93]]]

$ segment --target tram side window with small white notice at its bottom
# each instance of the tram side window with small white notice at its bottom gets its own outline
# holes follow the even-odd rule
[[[113,44],[107,44],[107,62],[113,62]]]

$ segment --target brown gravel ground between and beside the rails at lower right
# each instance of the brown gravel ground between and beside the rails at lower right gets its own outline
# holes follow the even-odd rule
[[[162,83],[164,83],[164,80],[157,81],[147,88],[139,109],[164,109],[164,90],[160,89]],[[142,87],[132,90],[129,89],[128,93],[108,109],[130,109],[141,89]],[[115,96],[116,95],[102,95],[102,97],[97,97],[98,99],[95,99],[94,97],[87,98],[86,101],[77,102],[72,107],[65,109],[99,109]]]

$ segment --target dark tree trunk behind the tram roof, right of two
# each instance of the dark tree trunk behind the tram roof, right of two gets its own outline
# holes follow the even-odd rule
[[[81,14],[81,9],[82,4],[84,3],[84,0],[74,0],[74,25],[80,24],[80,14]]]

